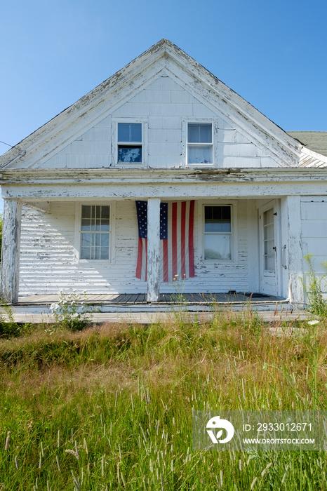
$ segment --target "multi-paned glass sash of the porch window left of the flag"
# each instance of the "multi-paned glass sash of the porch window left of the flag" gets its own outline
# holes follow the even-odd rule
[[[82,205],[80,259],[109,260],[110,207]]]

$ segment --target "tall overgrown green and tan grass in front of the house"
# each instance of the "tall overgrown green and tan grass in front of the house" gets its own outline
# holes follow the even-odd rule
[[[0,490],[327,490],[326,452],[192,451],[192,409],[326,410],[326,325],[182,313],[0,339]]]

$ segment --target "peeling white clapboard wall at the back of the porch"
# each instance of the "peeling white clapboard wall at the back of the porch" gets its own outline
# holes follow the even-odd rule
[[[219,203],[219,202],[218,202]],[[248,229],[246,201],[238,208],[237,259],[232,263],[201,260],[203,223],[196,211],[194,222],[195,278],[185,281],[185,292],[247,291]],[[212,201],[211,201],[212,204]],[[197,203],[196,203],[197,208]],[[201,216],[201,215],[200,215]],[[20,296],[56,293],[74,288],[88,293],[137,293],[147,284],[135,278],[138,224],[134,201],[116,202],[115,260],[90,264],[74,259],[75,203],[51,203],[50,213],[23,208]],[[161,292],[176,286],[161,284]]]

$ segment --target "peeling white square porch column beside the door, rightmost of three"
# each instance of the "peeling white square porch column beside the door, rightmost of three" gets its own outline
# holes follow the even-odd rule
[[[288,217],[288,297],[292,304],[296,304],[296,307],[302,307],[304,292],[300,280],[303,278],[300,196],[287,196],[286,203]]]

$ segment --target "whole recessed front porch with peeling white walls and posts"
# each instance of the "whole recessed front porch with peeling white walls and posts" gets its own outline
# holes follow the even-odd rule
[[[166,200],[168,205],[183,203],[181,199],[171,200],[171,197]],[[86,301],[102,304],[102,309],[107,311],[128,311],[132,307],[138,311],[162,311],[176,308],[178,304],[187,304],[187,309],[196,311],[212,309],[213,303],[234,309],[251,303],[256,309],[274,310],[276,302],[287,304],[286,298],[297,307],[301,304],[302,288],[298,278],[302,252],[295,250],[300,228],[298,221],[291,221],[291,211],[298,210],[298,200],[290,197],[194,200],[192,247],[186,233],[182,241],[180,227],[176,226],[174,243],[181,245],[177,252],[175,250],[175,257],[172,250],[168,250],[166,261],[159,234],[159,198],[147,199],[149,234],[145,239],[147,244],[142,246],[147,254],[140,254],[135,199],[102,198],[97,201],[100,204],[89,204],[94,200],[88,199],[56,199],[44,205],[44,210],[42,203],[37,203],[36,208],[35,203],[25,202],[21,219],[20,203],[7,201],[8,233],[15,229],[17,235],[12,234],[11,247],[4,248],[3,264],[11,264],[11,268],[1,271],[2,297],[9,304],[47,306],[57,301],[59,290],[71,291],[72,288],[79,293],[88,291],[90,296]],[[102,213],[103,207],[110,217],[109,231],[99,232],[101,238],[105,237],[101,250],[106,255],[100,259],[92,255],[84,257],[81,228],[86,219],[82,220],[81,213],[91,208]],[[221,217],[213,216],[215,214]],[[293,230],[295,224],[296,231]],[[294,234],[290,236],[291,231]],[[93,232],[87,231],[87,234],[91,236]],[[190,260],[185,260],[185,271],[180,266],[182,250],[192,252],[192,275],[186,271]],[[144,259],[140,267],[144,278],[135,273],[140,256]],[[169,268],[166,280],[163,263]],[[184,279],[173,281],[176,276]],[[183,300],[179,292],[172,293],[179,288]]]

